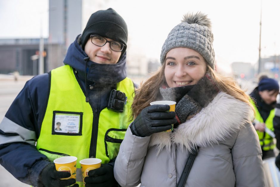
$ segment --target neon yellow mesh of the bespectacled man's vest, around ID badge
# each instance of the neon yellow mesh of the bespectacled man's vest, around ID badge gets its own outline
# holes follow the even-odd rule
[[[129,98],[128,100],[133,100],[134,87],[129,78],[117,84],[117,89],[125,92]],[[94,124],[98,125],[96,158],[100,158],[102,163],[108,163],[110,160],[105,152],[104,135],[110,128],[126,129],[128,127],[130,122],[127,121],[126,116],[130,115],[130,106],[131,102],[128,102],[125,106],[125,111],[122,113],[113,112],[105,108],[100,112],[99,124]],[[54,128],[53,111],[83,112],[82,135],[52,135],[52,128]],[[93,118],[93,110],[90,104],[85,102],[85,95],[75,78],[72,68],[69,65],[65,65],[52,70],[49,100],[40,136],[37,140],[37,149],[75,156],[78,158],[77,168],[80,168],[80,160],[90,157]],[[123,139],[124,137],[120,138]],[[52,158],[49,159],[52,160]]]

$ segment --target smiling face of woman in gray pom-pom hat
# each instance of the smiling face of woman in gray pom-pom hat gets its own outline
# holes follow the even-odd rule
[[[165,58],[164,76],[170,88],[197,84],[206,73],[206,62],[195,50],[173,48]]]

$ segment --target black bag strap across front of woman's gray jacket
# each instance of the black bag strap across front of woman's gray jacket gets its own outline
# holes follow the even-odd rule
[[[178,184],[176,187],[183,187],[184,184],[186,183],[187,177],[189,175],[189,171],[191,170],[192,164],[195,160],[195,156],[197,155],[197,152],[199,151],[200,147],[196,147],[196,149],[193,151],[193,153],[189,154],[189,157],[187,159],[187,162],[185,164],[185,167],[183,169],[183,172],[181,174],[181,177],[178,181]]]

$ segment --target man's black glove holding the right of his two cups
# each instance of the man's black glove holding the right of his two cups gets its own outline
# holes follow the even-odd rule
[[[85,187],[111,187],[117,185],[114,168],[109,164],[101,164],[100,168],[90,170],[85,177]]]

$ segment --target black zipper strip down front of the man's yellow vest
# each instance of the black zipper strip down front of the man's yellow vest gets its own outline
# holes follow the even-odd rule
[[[95,109],[93,111],[93,123],[92,123],[92,131],[91,131],[91,145],[89,149],[89,158],[96,157],[99,114],[100,114],[100,110]]]

